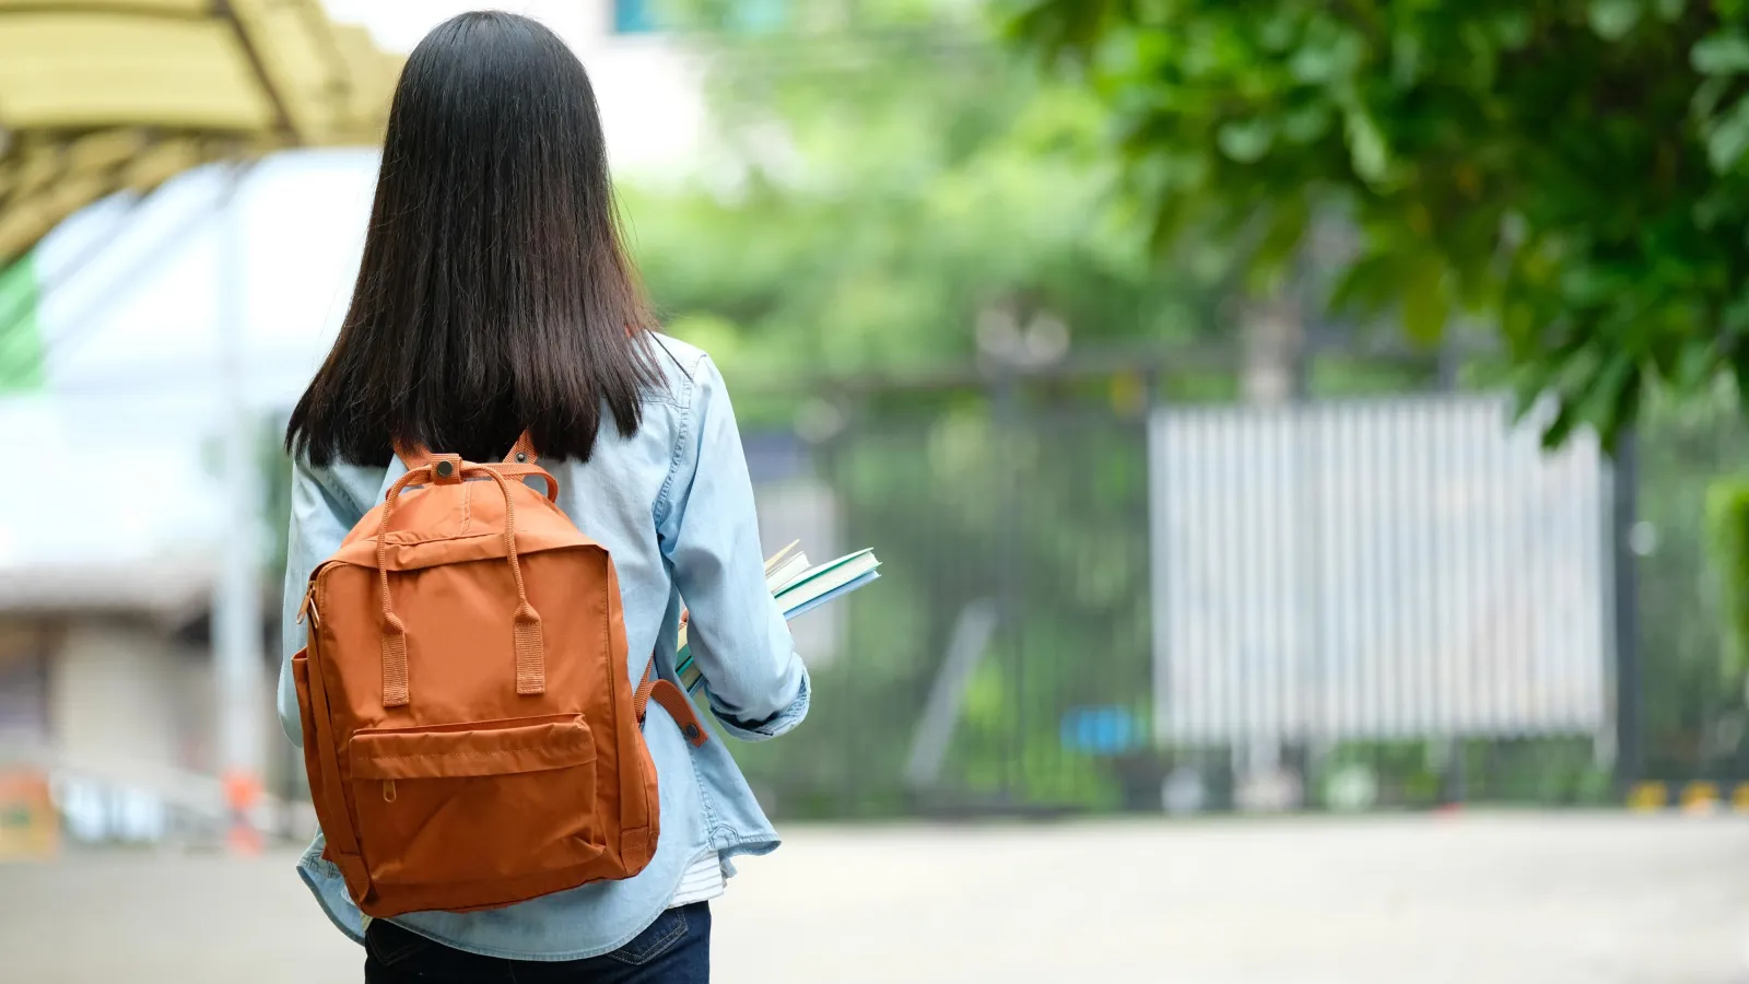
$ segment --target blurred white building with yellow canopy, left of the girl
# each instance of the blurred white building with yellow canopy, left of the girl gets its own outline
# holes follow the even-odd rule
[[[220,478],[259,406],[224,355],[250,333],[238,177],[374,144],[397,67],[318,0],[0,5],[0,452],[37,464],[0,488],[0,755],[87,833],[220,802],[206,627],[254,594],[220,576]],[[262,630],[233,630],[250,662]]]

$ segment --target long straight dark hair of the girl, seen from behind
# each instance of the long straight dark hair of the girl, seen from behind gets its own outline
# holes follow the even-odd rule
[[[588,460],[603,406],[638,429],[652,329],[582,63],[528,18],[462,14],[401,72],[352,306],[285,445],[498,460],[526,427]]]

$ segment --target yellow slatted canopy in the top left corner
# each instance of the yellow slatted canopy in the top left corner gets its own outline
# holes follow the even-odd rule
[[[399,72],[320,0],[0,0],[0,268],[121,189],[376,144]]]

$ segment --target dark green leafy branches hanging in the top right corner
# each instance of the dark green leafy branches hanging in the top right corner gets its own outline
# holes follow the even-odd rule
[[[1112,114],[1168,249],[1265,296],[1326,217],[1333,305],[1432,340],[1497,326],[1550,441],[1656,382],[1749,385],[1744,0],[999,0]]]

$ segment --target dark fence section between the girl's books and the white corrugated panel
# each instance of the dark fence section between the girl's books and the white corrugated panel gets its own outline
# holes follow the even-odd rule
[[[885,574],[801,643],[806,732],[736,749],[768,805],[1100,809],[1137,784],[1158,802],[1128,765],[1153,700],[1144,446],[1139,418],[979,404],[854,425],[768,474],[820,487],[840,543],[874,546]]]

